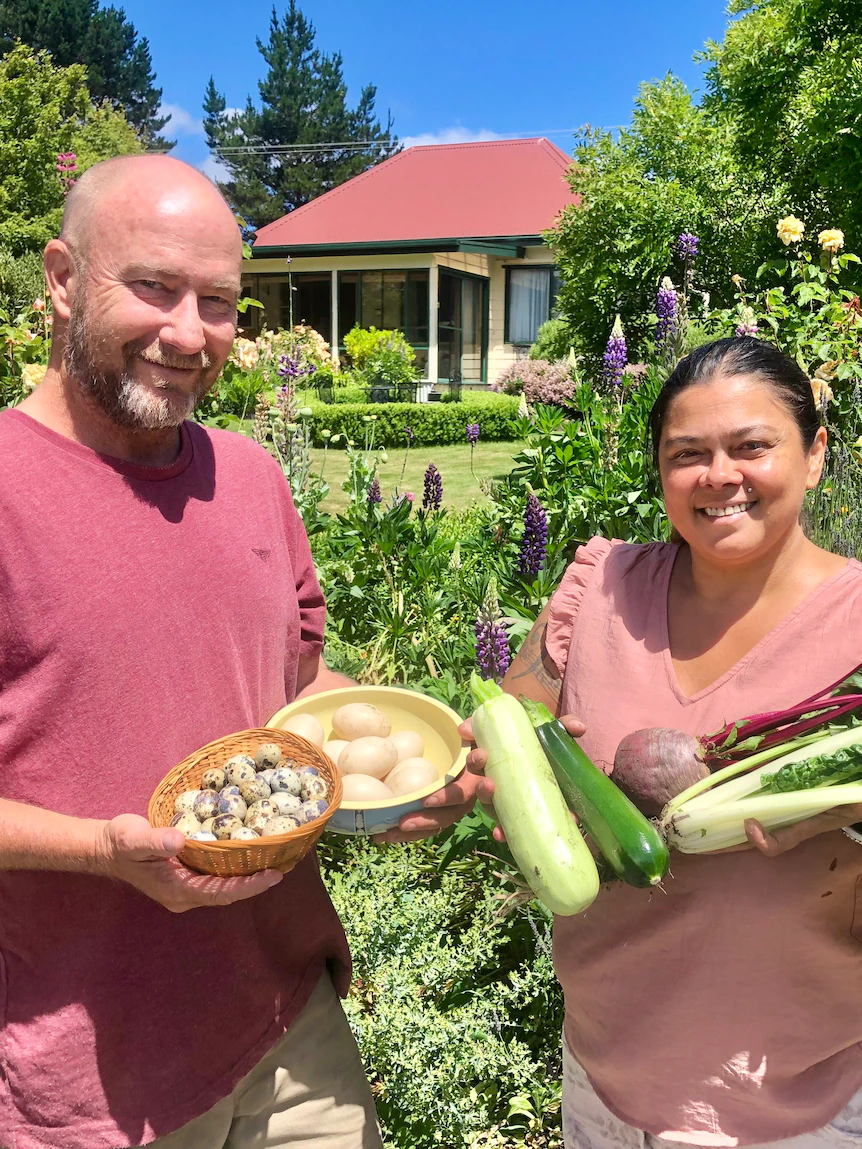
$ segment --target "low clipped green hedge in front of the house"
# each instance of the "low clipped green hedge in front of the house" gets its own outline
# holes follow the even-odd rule
[[[361,444],[368,424],[364,417],[376,415],[375,442],[398,447],[406,441],[405,427],[410,427],[417,446],[436,447],[467,441],[467,424],[479,424],[484,441],[511,439],[510,421],[518,409],[517,395],[467,393],[457,403],[321,403],[308,404],[314,411],[311,435],[316,447],[323,446],[323,431],[341,434]],[[338,446],[338,444],[336,445]]]

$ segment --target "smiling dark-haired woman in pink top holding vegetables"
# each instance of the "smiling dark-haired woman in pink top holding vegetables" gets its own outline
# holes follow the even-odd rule
[[[706,733],[862,663],[862,565],[800,525],[826,434],[796,364],[756,339],[701,347],[651,422],[679,541],[582,547],[505,683],[577,716],[605,770],[634,730]],[[860,817],[752,823],[747,849],[675,854],[663,893],[621,884],[557,919],[569,1149],[862,1139],[862,847],[840,833]]]

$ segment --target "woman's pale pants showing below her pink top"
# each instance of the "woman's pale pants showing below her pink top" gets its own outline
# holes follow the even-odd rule
[[[814,1133],[749,1149],[859,1149],[862,1139],[862,1092],[829,1125]],[[626,1125],[595,1094],[563,1038],[563,1140],[565,1149],[693,1149]]]

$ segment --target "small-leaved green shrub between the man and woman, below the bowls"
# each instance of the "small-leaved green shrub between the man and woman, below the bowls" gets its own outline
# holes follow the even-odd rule
[[[468,849],[495,846],[486,827],[469,830]],[[330,838],[322,851],[355,962],[347,1016],[386,1144],[561,1147],[551,923],[536,903],[500,918],[497,857],[452,845]]]

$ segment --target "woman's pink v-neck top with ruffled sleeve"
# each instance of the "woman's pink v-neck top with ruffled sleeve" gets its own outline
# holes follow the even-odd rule
[[[851,561],[717,681],[680,691],[668,641],[678,548],[592,539],[552,603],[562,712],[609,771],[646,726],[692,734],[790,707],[862,663]],[[862,847],[832,832],[777,858],[674,854],[664,889],[622,884],[557,918],[565,1039],[622,1120],[703,1146],[828,1124],[862,1087]]]

